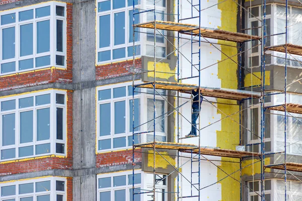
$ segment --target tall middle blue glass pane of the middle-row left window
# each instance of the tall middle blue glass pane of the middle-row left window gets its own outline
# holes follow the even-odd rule
[[[20,143],[33,141],[33,111],[20,113]]]

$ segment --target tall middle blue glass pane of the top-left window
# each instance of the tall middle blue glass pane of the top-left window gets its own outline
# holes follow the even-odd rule
[[[33,54],[33,24],[20,26],[20,56]]]

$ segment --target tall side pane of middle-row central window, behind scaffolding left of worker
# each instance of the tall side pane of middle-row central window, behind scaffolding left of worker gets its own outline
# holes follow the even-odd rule
[[[156,100],[156,106],[155,106],[155,117],[157,118],[155,120],[155,130],[157,132],[165,132],[165,101],[164,100]],[[147,121],[150,121],[147,123],[148,131],[154,130],[154,102],[152,98],[147,99]]]

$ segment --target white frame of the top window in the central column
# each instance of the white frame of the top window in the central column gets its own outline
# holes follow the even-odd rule
[[[100,2],[106,2],[108,0],[98,0],[96,2],[97,4],[97,9],[98,9],[98,3]],[[131,53],[130,57],[128,57],[128,47],[131,47],[133,46],[133,42],[129,42],[129,31],[130,29],[132,29],[132,26],[128,26],[128,23],[129,23],[129,11],[131,11],[133,9],[132,6],[127,6],[128,5],[128,0],[118,0],[118,1],[125,1],[125,7],[124,8],[120,8],[120,9],[114,9],[113,10],[113,0],[111,0],[111,10],[109,11],[103,11],[103,12],[98,12],[97,10],[97,44],[96,44],[96,47],[97,47],[97,51],[96,51],[96,63],[97,64],[104,64],[104,63],[108,63],[108,62],[115,62],[115,61],[121,61],[121,60],[126,60],[126,59],[131,59],[133,58],[133,54]],[[132,1],[132,0],[131,0]],[[138,0],[138,5],[135,5],[134,6],[135,8],[140,8],[141,5],[140,5],[140,0]],[[140,10],[137,10],[137,11],[140,11]],[[136,11],[136,12],[137,12]],[[114,45],[114,14],[115,13],[121,13],[121,12],[125,12],[125,43],[124,44],[121,44],[121,45]],[[100,16],[106,16],[106,15],[110,15],[110,46],[109,47],[103,47],[103,48],[100,48],[99,47],[99,30],[100,30],[100,23],[99,23],[99,20],[100,20]],[[139,15],[140,17],[140,15]],[[139,19],[141,20],[141,19]],[[141,55],[141,34],[139,34],[138,36],[138,41],[134,43],[135,46],[140,46],[140,54],[139,55],[135,55],[135,58],[137,57],[140,57]],[[113,50],[115,49],[119,49],[119,48],[125,48],[125,57],[123,58],[119,58],[119,59],[113,59]],[[110,50],[110,57],[111,59],[110,60],[107,60],[107,61],[101,61],[99,62],[98,61],[98,53],[99,52],[103,52],[103,51],[108,51]]]

